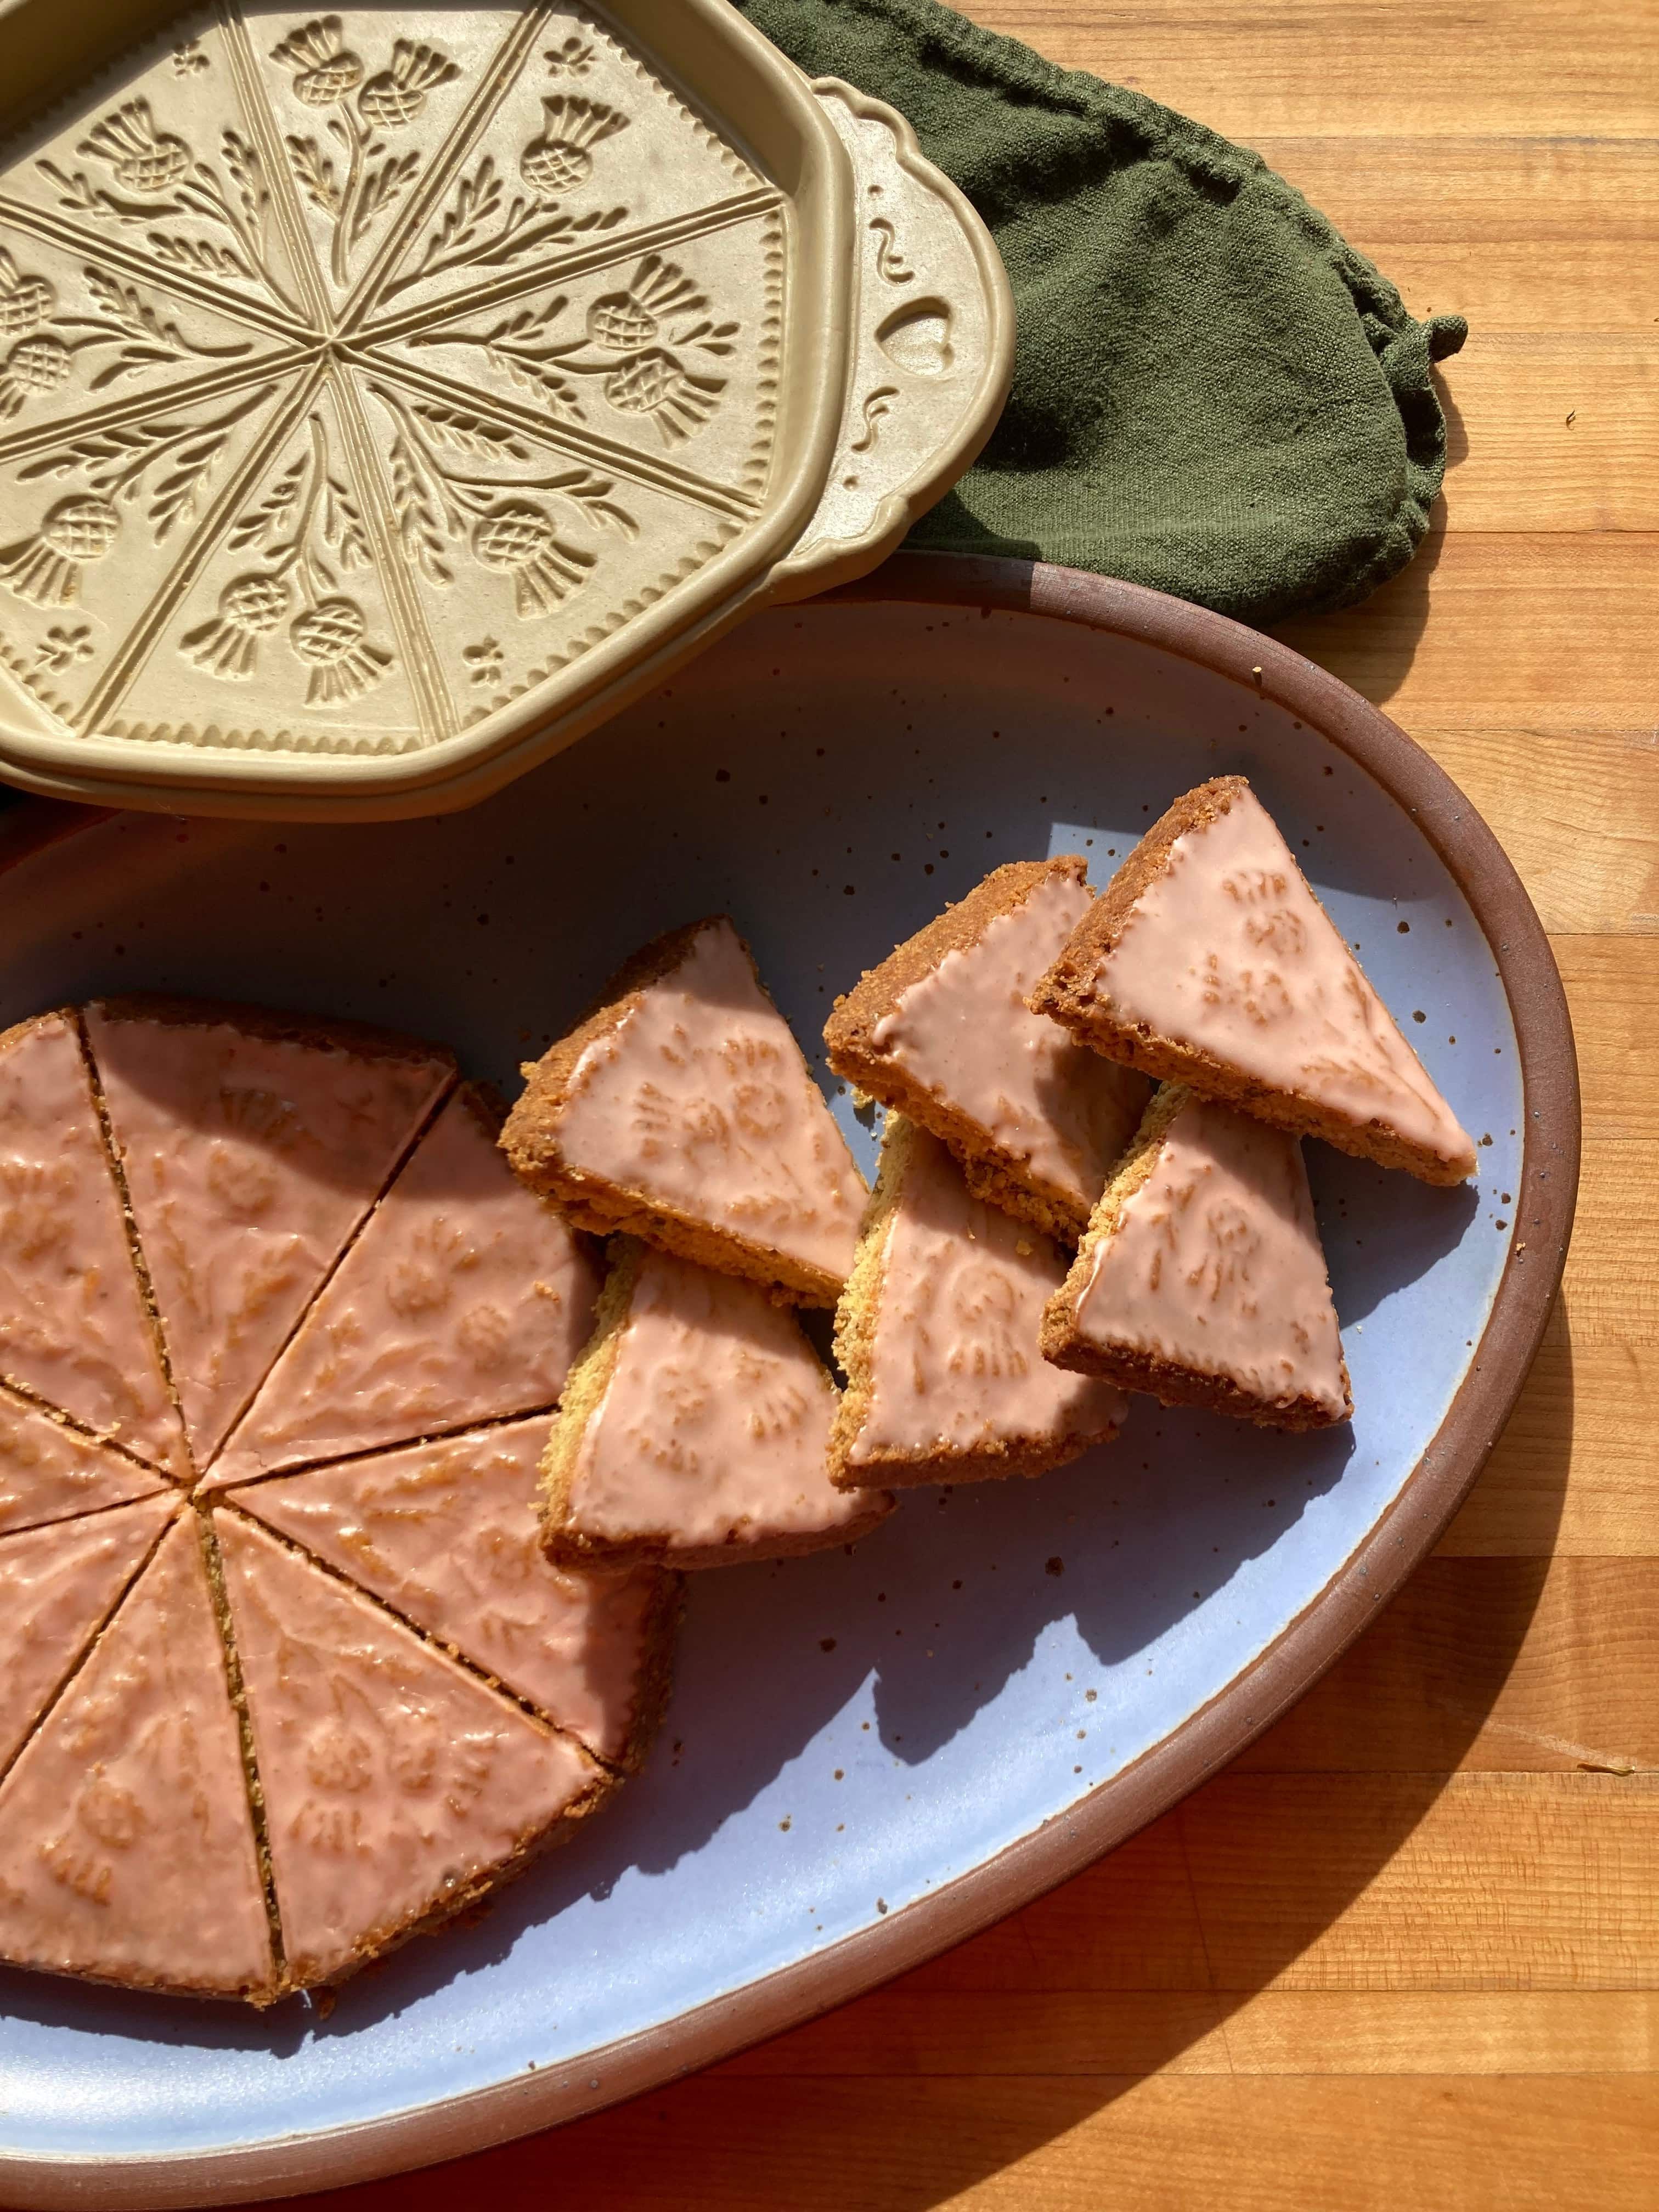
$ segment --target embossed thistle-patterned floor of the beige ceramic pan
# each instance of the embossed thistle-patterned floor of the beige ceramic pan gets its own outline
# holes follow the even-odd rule
[[[776,195],[597,24],[546,29],[204,18],[0,173],[0,664],[53,714],[104,728],[155,664],[276,721],[407,699],[389,741],[431,743],[560,664],[518,624],[608,591],[584,650],[759,511],[754,451],[730,484],[697,440],[776,312],[723,312],[699,237],[770,223],[761,268]],[[641,212],[661,108],[723,168]],[[661,582],[608,584],[664,500]]]

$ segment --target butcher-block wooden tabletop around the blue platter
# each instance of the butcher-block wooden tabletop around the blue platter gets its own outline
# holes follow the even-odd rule
[[[1413,566],[1285,635],[1383,703],[1555,942],[1584,1192],[1473,1498],[1272,1734],[832,2017],[316,2203],[495,2212],[1659,2205],[1659,4],[973,0],[1256,146],[1460,310]]]

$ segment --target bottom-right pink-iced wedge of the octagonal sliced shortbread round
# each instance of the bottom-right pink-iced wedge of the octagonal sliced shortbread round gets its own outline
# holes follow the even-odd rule
[[[219,1509],[288,1986],[478,1905],[615,1778],[383,1606]]]

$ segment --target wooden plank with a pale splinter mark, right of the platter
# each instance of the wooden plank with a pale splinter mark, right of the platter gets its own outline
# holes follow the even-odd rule
[[[1232,1772],[1659,1767],[1659,1562],[1429,1559]]]

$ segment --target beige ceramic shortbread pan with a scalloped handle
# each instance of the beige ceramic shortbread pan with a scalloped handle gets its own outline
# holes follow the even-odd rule
[[[469,805],[989,434],[995,248],[723,0],[0,9],[0,774]]]

